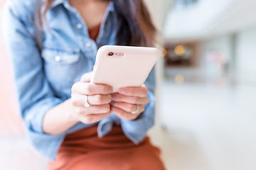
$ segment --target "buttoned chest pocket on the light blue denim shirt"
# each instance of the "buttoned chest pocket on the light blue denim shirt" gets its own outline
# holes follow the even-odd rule
[[[46,79],[55,91],[62,91],[74,84],[78,72],[80,50],[43,48],[42,57]]]

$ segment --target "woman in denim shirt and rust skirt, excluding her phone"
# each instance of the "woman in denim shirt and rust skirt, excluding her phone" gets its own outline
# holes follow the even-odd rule
[[[37,4],[7,1],[3,25],[26,134],[51,159],[49,169],[164,169],[146,137],[154,70],[142,87],[117,94],[90,84],[100,46],[152,44],[142,0],[45,0],[41,15]]]

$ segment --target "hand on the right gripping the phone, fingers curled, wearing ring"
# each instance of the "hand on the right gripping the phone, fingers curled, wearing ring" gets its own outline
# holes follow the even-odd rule
[[[134,120],[138,118],[144,112],[145,105],[149,103],[149,98],[146,96],[147,91],[148,89],[145,84],[141,87],[119,89],[119,93],[112,94],[111,111],[120,119]],[[137,113],[132,114],[135,111]]]

